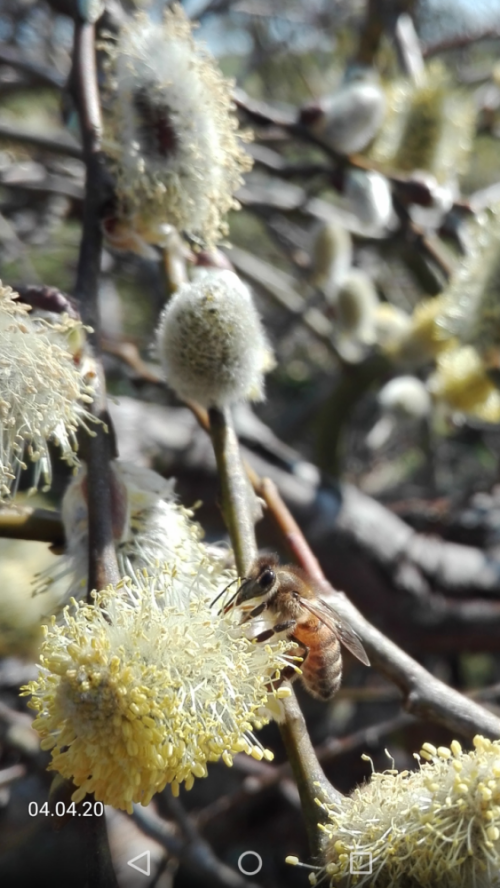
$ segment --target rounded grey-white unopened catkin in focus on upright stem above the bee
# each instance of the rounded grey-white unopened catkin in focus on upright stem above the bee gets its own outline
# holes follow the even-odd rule
[[[264,397],[272,353],[250,290],[232,271],[180,287],[161,316],[157,349],[180,398],[224,407]]]

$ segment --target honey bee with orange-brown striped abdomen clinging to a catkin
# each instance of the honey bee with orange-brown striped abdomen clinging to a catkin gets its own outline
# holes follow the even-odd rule
[[[310,577],[293,564],[280,566],[276,555],[257,558],[249,576],[224,606],[224,613],[233,607],[245,614],[242,623],[265,612],[275,617],[272,627],[253,640],[267,641],[273,635],[286,633],[301,649],[302,681],[319,700],[330,700],[340,687],[341,644],[365,666],[370,665],[358,636],[335,609],[323,601]],[[283,670],[282,678],[293,677],[292,669],[290,674],[285,672]]]

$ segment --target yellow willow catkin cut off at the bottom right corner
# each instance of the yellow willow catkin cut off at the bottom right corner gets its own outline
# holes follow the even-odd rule
[[[498,888],[500,740],[473,742],[473,752],[457,740],[450,748],[425,743],[418,771],[374,772],[340,805],[325,805],[326,865],[311,884]],[[350,872],[351,855],[371,855],[370,875]]]

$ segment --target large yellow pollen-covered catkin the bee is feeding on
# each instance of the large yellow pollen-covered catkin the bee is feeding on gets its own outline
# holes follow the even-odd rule
[[[23,692],[74,801],[94,793],[130,812],[168,783],[190,789],[208,762],[272,758],[252,730],[269,697],[290,693],[269,690],[290,642],[254,644],[236,614],[210,606],[218,592],[205,572],[188,583],[144,571],[46,627],[39,677]]]

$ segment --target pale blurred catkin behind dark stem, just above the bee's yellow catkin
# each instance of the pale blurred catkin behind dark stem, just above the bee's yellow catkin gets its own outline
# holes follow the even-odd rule
[[[158,564],[175,565],[176,576],[188,583],[201,572],[208,578],[222,574],[224,551],[203,544],[203,531],[192,512],[176,502],[173,479],[124,460],[113,460],[110,470],[113,537],[121,576]],[[66,552],[55,568],[40,575],[35,588],[36,593],[44,592],[67,577],[64,603],[87,591],[87,492],[87,469],[82,465],[62,501]]]

